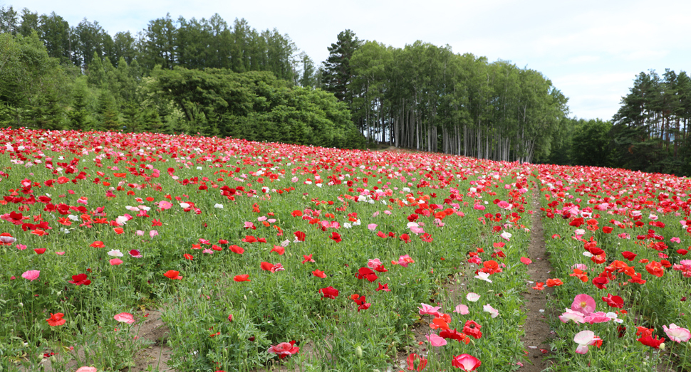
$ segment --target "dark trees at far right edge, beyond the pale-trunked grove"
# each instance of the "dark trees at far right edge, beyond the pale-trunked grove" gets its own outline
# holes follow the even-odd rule
[[[685,71],[641,72],[611,120],[568,121],[568,138],[549,162],[691,176],[691,78]]]

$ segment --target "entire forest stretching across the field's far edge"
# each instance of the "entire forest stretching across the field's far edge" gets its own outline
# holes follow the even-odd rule
[[[351,30],[326,48],[316,65],[287,34],[219,14],[111,36],[98,21],[3,7],[0,124],[691,172],[683,71],[640,73],[613,118],[583,120],[549,78],[508,60]]]

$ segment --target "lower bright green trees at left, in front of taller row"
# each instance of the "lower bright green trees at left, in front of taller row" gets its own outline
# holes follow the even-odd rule
[[[143,70],[94,53],[83,74],[48,55],[35,32],[0,33],[0,124],[364,147],[348,107],[323,90],[266,71]]]

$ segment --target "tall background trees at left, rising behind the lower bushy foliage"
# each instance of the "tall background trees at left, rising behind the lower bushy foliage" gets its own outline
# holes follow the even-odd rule
[[[218,14],[200,20],[182,16],[175,20],[167,14],[149,21],[135,35],[121,31],[110,36],[98,21],[85,18],[70,26],[55,12],[39,16],[26,8],[0,8],[0,33],[28,37],[34,31],[49,56],[83,71],[94,58],[108,58],[115,66],[123,58],[128,64],[137,60],[145,71],[155,65],[164,69],[227,68],[235,73],[270,71],[303,86],[316,83],[314,63],[305,53],[298,53],[287,34],[275,28],[257,31],[244,19],[235,19],[230,26]]]

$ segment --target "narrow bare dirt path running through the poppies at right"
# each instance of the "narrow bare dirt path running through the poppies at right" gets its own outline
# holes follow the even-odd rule
[[[545,250],[539,196],[539,184],[536,184],[531,208],[534,211],[532,216],[533,227],[530,232],[530,246],[528,248],[528,258],[533,261],[528,265],[528,275],[530,280],[534,282],[530,287],[533,287],[538,282],[547,282],[552,270],[554,270],[549,262],[549,255]],[[544,288],[542,291],[529,289],[529,293],[524,294],[524,299],[526,300],[525,310],[528,312],[528,318],[524,326],[526,334],[523,338],[523,343],[526,351],[528,351],[529,363],[525,363],[520,371],[539,372],[550,366],[549,362],[545,362],[543,358],[547,356],[546,354],[549,354],[547,342],[550,336],[549,324],[547,324],[545,319],[547,311],[546,295],[552,294],[553,289],[546,286]]]

